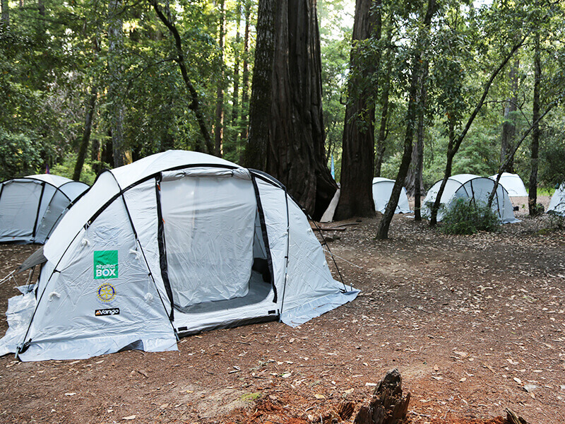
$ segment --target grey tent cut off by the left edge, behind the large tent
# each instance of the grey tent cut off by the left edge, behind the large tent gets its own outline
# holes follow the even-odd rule
[[[66,208],[88,184],[59,175],[30,175],[0,183],[0,242],[44,243]]]

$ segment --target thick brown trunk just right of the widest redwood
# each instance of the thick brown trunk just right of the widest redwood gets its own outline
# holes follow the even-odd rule
[[[371,9],[371,0],[357,0],[355,23],[353,23],[353,46],[350,54],[350,69],[353,75],[347,84],[348,100],[343,124],[343,151],[341,158],[341,190],[335,218],[352,216],[374,216],[373,171],[374,171],[374,98],[369,94],[369,78],[379,64],[367,66],[363,60],[363,47],[356,42],[369,37],[380,38],[381,8],[377,0],[376,10]]]

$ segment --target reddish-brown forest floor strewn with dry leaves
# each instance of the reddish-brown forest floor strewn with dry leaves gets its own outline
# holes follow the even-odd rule
[[[472,236],[410,216],[394,218],[386,241],[374,239],[379,218],[326,231],[345,282],[362,293],[295,329],[208,331],[177,352],[6,355],[0,422],[330,423],[344,400],[367,404],[396,367],[410,423],[501,424],[505,408],[530,424],[565,423],[565,230],[518,216]],[[36,248],[0,247],[0,278]],[[14,285],[0,285],[0,310]],[[6,326],[3,317],[1,334]]]

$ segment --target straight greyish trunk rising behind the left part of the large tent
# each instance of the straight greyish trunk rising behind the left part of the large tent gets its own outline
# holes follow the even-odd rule
[[[108,4],[108,99],[110,106],[110,131],[114,167],[126,164],[124,145],[124,87],[122,83],[121,58],[124,54],[124,31],[120,12],[122,0],[110,0]]]

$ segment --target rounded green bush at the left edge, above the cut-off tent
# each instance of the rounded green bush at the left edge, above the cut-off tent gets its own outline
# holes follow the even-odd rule
[[[29,136],[0,128],[0,180],[35,174],[41,164],[40,151]]]

